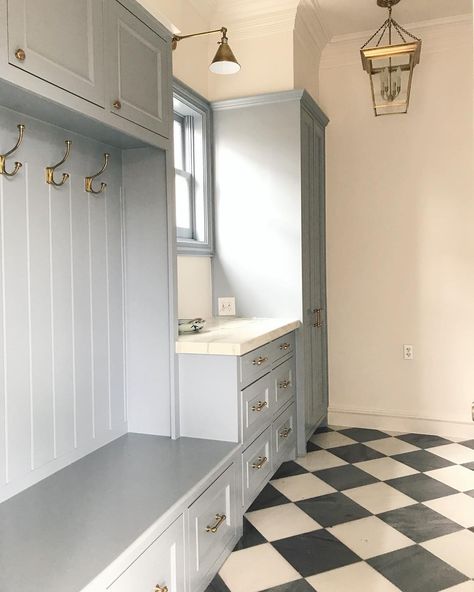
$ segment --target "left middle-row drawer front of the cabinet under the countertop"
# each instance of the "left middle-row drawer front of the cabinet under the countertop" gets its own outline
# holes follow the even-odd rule
[[[242,398],[242,442],[266,425],[270,425],[275,407],[274,382],[271,374],[260,378],[241,392]]]

